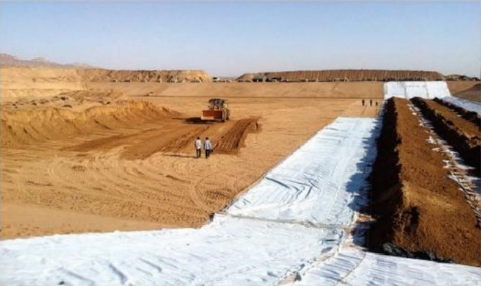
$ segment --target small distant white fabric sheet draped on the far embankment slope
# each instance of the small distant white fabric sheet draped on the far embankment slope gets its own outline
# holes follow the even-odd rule
[[[384,84],[384,99],[390,97],[434,99],[450,96],[446,82],[386,82]]]

